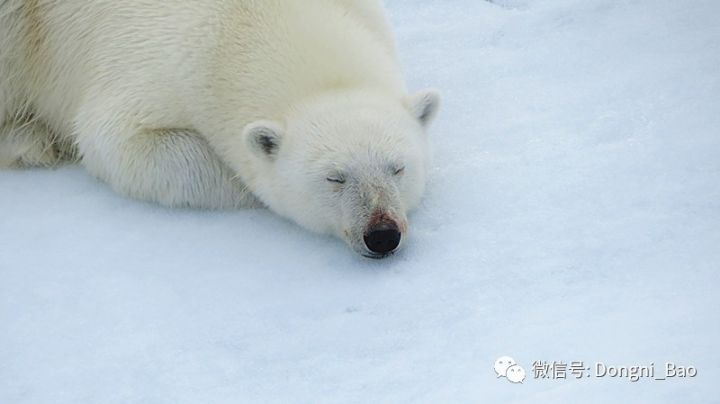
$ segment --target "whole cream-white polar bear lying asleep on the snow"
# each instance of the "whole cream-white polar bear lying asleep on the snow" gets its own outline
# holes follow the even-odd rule
[[[429,161],[379,0],[5,0],[0,166],[77,160],[166,206],[266,206],[385,257]]]

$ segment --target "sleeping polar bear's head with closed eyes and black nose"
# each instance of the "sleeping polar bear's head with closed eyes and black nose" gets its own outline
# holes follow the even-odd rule
[[[430,160],[425,133],[439,106],[433,90],[404,99],[333,93],[293,106],[284,122],[243,133],[248,185],[276,213],[335,234],[382,258],[399,248],[419,203]]]

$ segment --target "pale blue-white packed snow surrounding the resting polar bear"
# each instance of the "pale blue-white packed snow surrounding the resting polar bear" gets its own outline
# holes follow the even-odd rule
[[[0,172],[0,403],[720,402],[720,2],[389,9],[445,100],[407,248]]]

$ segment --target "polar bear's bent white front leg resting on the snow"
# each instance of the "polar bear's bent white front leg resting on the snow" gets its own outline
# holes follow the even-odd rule
[[[262,206],[191,130],[80,137],[78,146],[90,173],[132,198],[203,209]]]

